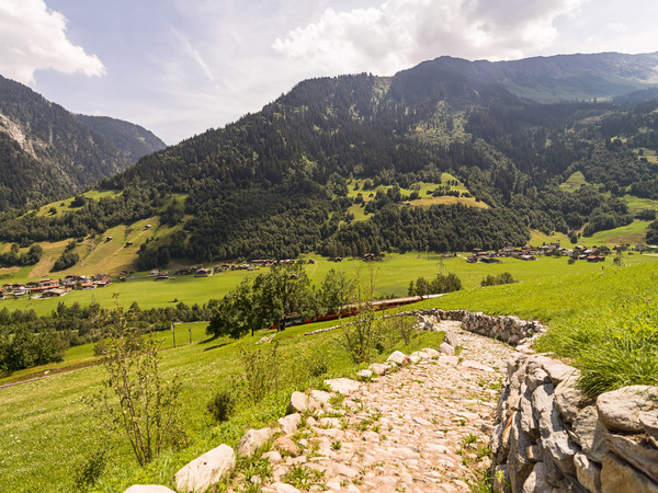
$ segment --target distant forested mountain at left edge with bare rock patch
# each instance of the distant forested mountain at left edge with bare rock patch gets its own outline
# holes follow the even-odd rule
[[[0,76],[0,210],[70,195],[162,148],[137,125],[73,115]]]

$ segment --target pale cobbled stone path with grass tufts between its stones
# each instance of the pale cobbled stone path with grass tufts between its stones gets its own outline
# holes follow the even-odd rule
[[[332,397],[294,435],[277,440],[273,450],[280,451],[266,455],[273,474],[262,491],[299,491],[291,484],[336,492],[470,491],[477,471],[490,463],[489,432],[513,349],[464,332],[458,322],[441,324],[458,333],[457,356],[421,360],[344,399]]]

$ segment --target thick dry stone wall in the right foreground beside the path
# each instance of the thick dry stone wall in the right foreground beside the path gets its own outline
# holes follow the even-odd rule
[[[578,370],[517,353],[491,432],[495,491],[658,492],[658,387],[587,398]]]

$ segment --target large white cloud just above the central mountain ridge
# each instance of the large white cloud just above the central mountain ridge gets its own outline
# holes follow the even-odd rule
[[[557,36],[554,20],[586,0],[387,0],[337,12],[276,38],[273,48],[322,73],[392,73],[450,54],[490,60],[526,56]]]

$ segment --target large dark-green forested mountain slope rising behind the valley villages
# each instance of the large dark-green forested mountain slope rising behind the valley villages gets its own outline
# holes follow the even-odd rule
[[[639,80],[650,82],[655,64],[646,56],[637,62],[646,70],[633,66],[624,73],[612,72],[606,54],[574,57],[599,67],[601,80],[605,71],[608,81],[625,80],[628,92]],[[620,57],[612,56],[617,67]],[[261,112],[103,180],[101,187],[125,191],[103,204],[90,200],[50,219],[5,216],[0,239],[27,244],[38,231],[57,238],[100,232],[125,216],[139,191],[149,211],[161,210],[172,193],[186,197],[164,207],[162,221],[182,227],[141,246],[141,268],[171,257],[464,251],[523,243],[531,228],[577,238],[628,225],[633,210],[624,196],[654,196],[655,92],[593,103],[599,85],[587,92],[586,77],[579,84],[590,102],[544,104],[512,92],[522,80],[518,67],[531,67],[537,80],[564,81],[568,64],[557,70],[560,57],[509,62],[513,70],[492,64],[504,69],[504,80],[483,76],[489,65],[457,60],[455,69],[453,61],[424,62],[390,78],[300,82]],[[527,87],[548,94],[555,83]],[[577,171],[583,186],[559,186]]]

